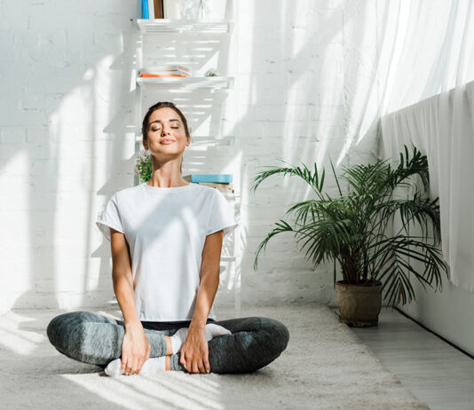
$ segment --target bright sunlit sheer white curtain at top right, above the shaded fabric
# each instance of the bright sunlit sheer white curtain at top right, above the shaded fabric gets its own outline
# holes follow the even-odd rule
[[[474,81],[474,1],[376,5],[379,117]]]

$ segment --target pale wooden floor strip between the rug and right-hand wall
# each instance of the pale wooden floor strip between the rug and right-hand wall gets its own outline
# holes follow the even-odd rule
[[[474,409],[474,360],[462,351],[391,308],[378,326],[350,328],[431,410]]]

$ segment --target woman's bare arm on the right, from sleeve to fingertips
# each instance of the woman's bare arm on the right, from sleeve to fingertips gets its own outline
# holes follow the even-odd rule
[[[189,373],[206,373],[207,370],[210,370],[205,330],[209,311],[219,286],[220,254],[223,238],[223,230],[211,233],[206,236],[202,249],[200,285],[196,296],[196,308],[179,359]]]

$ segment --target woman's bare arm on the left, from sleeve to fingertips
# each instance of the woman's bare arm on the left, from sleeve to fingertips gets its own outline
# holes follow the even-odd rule
[[[112,280],[114,292],[123,313],[125,335],[122,340],[122,366],[125,374],[138,374],[150,357],[151,346],[135,308],[130,248],[125,235],[110,228]]]

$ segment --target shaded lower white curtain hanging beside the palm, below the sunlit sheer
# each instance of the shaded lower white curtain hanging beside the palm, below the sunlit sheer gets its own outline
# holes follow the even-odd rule
[[[454,285],[474,291],[474,82],[381,119],[383,157],[403,145],[428,156],[431,197],[439,197],[443,256]]]

